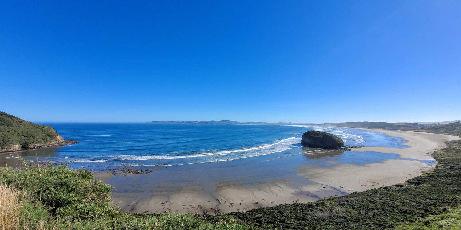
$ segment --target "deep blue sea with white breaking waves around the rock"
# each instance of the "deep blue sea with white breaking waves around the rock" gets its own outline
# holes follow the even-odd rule
[[[318,149],[302,148],[300,144],[302,133],[309,130],[335,134],[346,145],[408,147],[404,145],[402,138],[339,127],[80,123],[45,125],[53,126],[65,139],[80,142],[56,149],[31,151],[23,157],[31,161],[37,158],[46,158],[47,161],[57,163],[72,161],[71,167],[74,168],[174,166],[234,161],[263,155],[270,159],[315,154]],[[361,159],[365,162],[367,157],[363,156]],[[376,160],[376,157],[372,158]]]

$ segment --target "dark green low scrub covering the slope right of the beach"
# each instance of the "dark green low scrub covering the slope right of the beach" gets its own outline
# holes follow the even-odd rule
[[[431,132],[461,136],[460,127],[461,123],[450,123],[438,126]],[[434,170],[404,184],[351,193],[329,200],[285,204],[229,214],[262,229],[372,230],[392,229],[399,223],[401,224],[397,229],[401,230],[437,229],[437,226],[446,224],[443,220],[447,217],[448,222],[452,222],[447,226],[461,229],[458,227],[461,205],[461,140],[446,144],[447,148],[434,153],[438,161]],[[448,210],[455,211],[450,214],[446,213]]]

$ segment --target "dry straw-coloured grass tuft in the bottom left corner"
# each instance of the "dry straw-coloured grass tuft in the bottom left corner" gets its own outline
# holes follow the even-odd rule
[[[19,193],[11,186],[0,184],[0,229],[18,230],[19,219]]]

